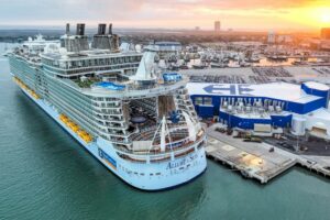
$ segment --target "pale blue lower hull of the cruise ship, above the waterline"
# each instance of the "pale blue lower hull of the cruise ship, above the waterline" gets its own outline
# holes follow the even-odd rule
[[[22,91],[108,169],[138,189],[163,190],[174,188],[193,180],[206,170],[205,148],[197,146],[194,152],[173,161],[136,163],[123,160],[118,156],[111,143],[100,138],[95,142],[86,143],[59,120],[59,113],[55,108],[42,99],[35,99],[24,89]]]

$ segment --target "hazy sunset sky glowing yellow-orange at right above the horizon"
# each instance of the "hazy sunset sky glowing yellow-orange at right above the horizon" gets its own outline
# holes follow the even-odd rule
[[[1,26],[112,22],[117,28],[317,30],[330,0],[0,0]]]

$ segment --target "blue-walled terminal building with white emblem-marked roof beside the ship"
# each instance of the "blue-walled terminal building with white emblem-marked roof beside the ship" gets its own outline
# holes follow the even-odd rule
[[[198,84],[187,85],[200,118],[213,118],[230,128],[255,132],[290,129],[330,139],[330,88],[319,82],[294,85]]]

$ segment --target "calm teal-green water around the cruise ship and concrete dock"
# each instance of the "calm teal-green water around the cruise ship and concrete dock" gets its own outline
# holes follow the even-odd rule
[[[174,190],[133,189],[29,100],[0,57],[1,220],[330,219],[329,204],[330,182],[302,168],[262,186],[211,161]]]

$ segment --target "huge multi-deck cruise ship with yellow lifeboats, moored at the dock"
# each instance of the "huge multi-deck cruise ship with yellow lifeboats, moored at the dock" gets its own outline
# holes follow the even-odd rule
[[[90,40],[92,38],[92,40]],[[163,190],[207,167],[205,130],[177,73],[161,73],[152,47],[120,50],[112,24],[85,24],[59,41],[41,35],[9,54],[22,91],[127,184]]]

